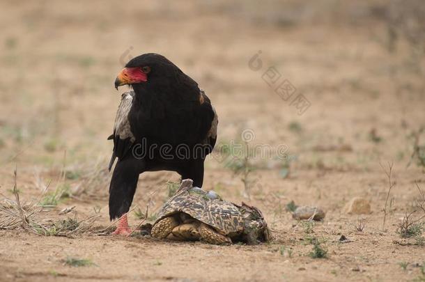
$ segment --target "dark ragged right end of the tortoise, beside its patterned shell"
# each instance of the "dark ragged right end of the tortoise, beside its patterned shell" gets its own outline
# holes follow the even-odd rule
[[[268,242],[272,239],[261,210],[242,202],[240,211],[245,218],[244,236],[248,244]]]

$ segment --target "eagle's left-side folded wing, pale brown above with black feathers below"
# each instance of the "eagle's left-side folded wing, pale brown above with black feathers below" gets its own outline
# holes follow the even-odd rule
[[[132,107],[134,92],[128,91],[121,95],[121,103],[116,111],[114,134],[108,137],[108,140],[114,140],[114,150],[112,151],[111,161],[109,162],[109,171],[114,165],[115,158],[118,160],[127,154],[134,143],[134,135],[130,128],[128,113]]]

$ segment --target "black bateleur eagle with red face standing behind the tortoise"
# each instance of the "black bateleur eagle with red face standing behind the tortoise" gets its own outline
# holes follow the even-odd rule
[[[198,84],[159,54],[132,58],[116,77],[129,85],[116,113],[114,150],[118,159],[109,186],[109,217],[121,217],[114,234],[128,235],[130,210],[139,174],[176,171],[194,186],[203,182],[203,162],[217,139],[217,113]]]

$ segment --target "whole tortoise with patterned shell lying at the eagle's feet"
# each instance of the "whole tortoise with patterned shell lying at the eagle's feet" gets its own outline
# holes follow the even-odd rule
[[[224,201],[214,191],[192,187],[192,183],[190,179],[183,180],[161,207],[151,230],[153,237],[210,244],[258,244],[271,239],[258,208]]]

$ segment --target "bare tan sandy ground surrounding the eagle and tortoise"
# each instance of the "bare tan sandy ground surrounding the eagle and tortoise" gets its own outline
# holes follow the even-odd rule
[[[385,25],[366,13],[380,2],[371,2],[265,1],[258,7],[253,1],[0,1],[2,198],[13,197],[15,166],[23,201],[39,196],[50,181],[47,192],[52,191],[65,166],[70,173],[59,185],[73,195],[40,218],[82,219],[98,212],[94,225],[109,225],[106,138],[120,97],[113,82],[125,61],[146,52],[164,54],[205,89],[219,114],[219,143],[238,141],[249,129],[255,135],[249,144],[284,144],[292,159],[288,165],[276,157],[253,159],[250,200],[226,162],[215,157],[206,163],[203,188],[263,210],[275,236],[270,244],[210,246],[0,230],[0,281],[424,279],[419,266],[425,246],[394,244],[401,240],[401,218],[418,197],[415,181],[425,189],[424,171],[415,163],[406,167],[412,153],[408,136],[425,122],[424,75],[410,66],[424,69],[424,60],[408,61],[403,42],[387,52]],[[249,60],[258,50],[263,66],[255,71]],[[309,100],[307,111],[299,115],[263,81],[271,66]],[[396,185],[383,228],[388,185],[380,163],[387,162],[394,162]],[[133,206],[148,205],[154,214],[167,199],[167,180],[178,175],[141,175]],[[360,217],[362,232],[355,230],[359,217],[344,211],[355,196],[371,203],[371,214]],[[323,207],[325,220],[307,234],[305,224],[286,212],[290,201]],[[70,214],[59,215],[74,205]],[[131,226],[139,222],[131,212]],[[350,242],[339,242],[341,235]],[[328,258],[308,255],[309,236],[324,241]],[[64,265],[67,257],[94,265]],[[406,269],[401,263],[408,263]]]

